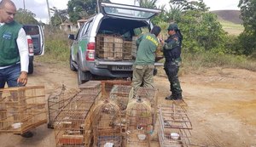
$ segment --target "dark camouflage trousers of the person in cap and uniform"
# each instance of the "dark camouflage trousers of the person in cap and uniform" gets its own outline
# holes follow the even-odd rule
[[[168,80],[170,82],[170,91],[172,94],[182,93],[182,89],[177,76],[180,65],[180,58],[172,59],[172,61],[166,61],[164,65],[166,75],[168,76]]]

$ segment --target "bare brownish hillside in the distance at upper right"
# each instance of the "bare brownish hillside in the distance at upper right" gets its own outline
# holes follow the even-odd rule
[[[213,14],[217,14],[218,20],[230,21],[234,24],[241,24],[242,20],[240,19],[239,10],[216,10],[211,11]]]

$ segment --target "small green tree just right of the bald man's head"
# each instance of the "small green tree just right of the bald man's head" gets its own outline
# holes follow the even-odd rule
[[[20,22],[20,24],[38,24],[38,20],[35,19],[36,14],[33,14],[27,9],[18,9],[15,14],[15,20]]]

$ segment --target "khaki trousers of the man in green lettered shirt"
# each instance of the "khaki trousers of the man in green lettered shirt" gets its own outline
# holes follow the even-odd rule
[[[154,88],[154,65],[133,65],[132,83],[133,95],[136,96],[139,87]]]

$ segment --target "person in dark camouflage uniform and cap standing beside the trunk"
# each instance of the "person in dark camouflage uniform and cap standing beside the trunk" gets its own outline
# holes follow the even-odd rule
[[[166,58],[164,69],[170,82],[172,95],[166,97],[166,99],[183,99],[182,89],[177,76],[182,61],[180,54],[183,36],[179,31],[177,24],[169,25],[168,34],[170,37],[168,37],[165,42],[162,41],[162,43],[164,56]]]

